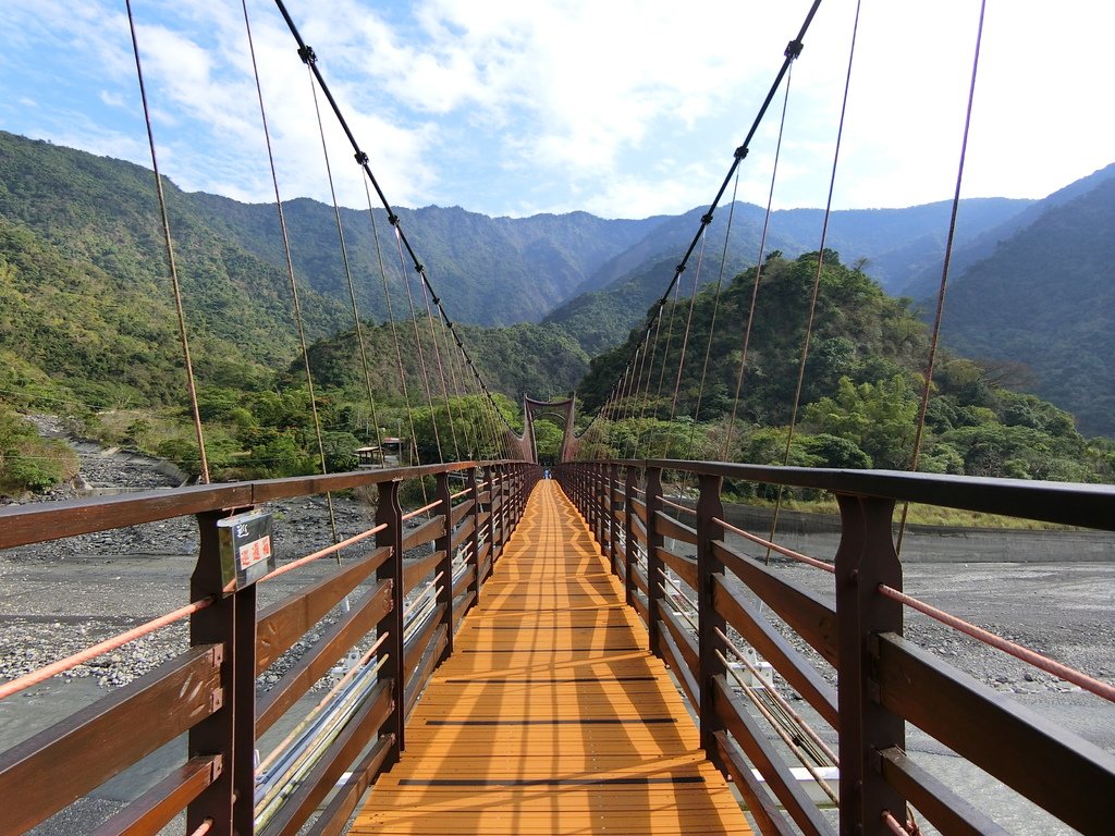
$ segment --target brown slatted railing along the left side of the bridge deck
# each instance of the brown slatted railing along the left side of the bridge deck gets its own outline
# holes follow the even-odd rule
[[[450,493],[450,474],[465,478],[464,490]],[[365,789],[398,758],[406,716],[434,669],[452,652],[460,619],[478,600],[540,474],[523,463],[467,461],[0,511],[0,548],[185,515],[196,517],[201,535],[191,581],[195,603],[169,614],[190,618],[190,649],[0,754],[0,799],[6,799],[0,830],[33,827],[186,735],[184,762],[104,822],[97,834],[156,834],[182,810],[186,833],[295,834],[347,772],[310,830],[339,833]],[[405,515],[399,486],[423,477],[435,480],[436,498]],[[346,547],[348,556],[336,572],[259,611],[255,585],[226,590],[217,536],[221,519],[277,499],[370,486],[378,492],[374,527],[340,546],[324,546],[287,563],[261,582]],[[419,513],[428,519],[405,529],[404,521]],[[410,556],[419,546],[429,546],[428,553]],[[370,589],[360,594],[361,585]],[[350,597],[336,622],[319,626]],[[169,615],[7,683],[0,699],[118,648],[149,632],[148,626],[157,629],[172,620]],[[256,698],[256,677],[314,630],[319,640]],[[256,740],[372,632],[376,642],[360,660],[374,665],[369,684],[346,698],[351,704],[342,727],[322,737],[312,760],[295,761],[297,784],[284,786],[281,797],[273,794],[265,820],[260,820]],[[265,765],[274,757],[268,756]]]

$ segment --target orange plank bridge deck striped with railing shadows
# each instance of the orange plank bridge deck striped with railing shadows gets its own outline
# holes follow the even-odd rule
[[[589,529],[541,482],[351,834],[746,834]]]

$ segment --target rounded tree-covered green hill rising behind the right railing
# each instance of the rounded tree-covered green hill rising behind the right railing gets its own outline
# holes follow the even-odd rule
[[[774,255],[765,265],[735,425],[730,415],[754,269],[736,276],[721,294],[710,348],[714,293],[707,289],[697,297],[677,389],[689,300],[666,309],[657,362],[641,378],[641,391],[649,397],[617,406],[610,414],[621,416],[619,420],[597,421],[586,438],[589,448],[621,457],[782,463],[816,265],[817,253],[795,260]],[[579,389],[588,411],[603,405],[641,339],[641,330],[632,332],[624,346],[593,359]],[[789,463],[906,469],[927,340],[911,310],[826,251]],[[1072,415],[1002,388],[998,371],[956,356],[940,359],[920,469],[1082,482],[1115,476],[1115,445],[1085,440]],[[725,450],[729,434],[733,444]]]

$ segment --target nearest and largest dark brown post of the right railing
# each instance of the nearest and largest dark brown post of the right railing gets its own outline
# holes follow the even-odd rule
[[[836,623],[840,670],[841,833],[889,833],[883,811],[905,822],[905,799],[879,769],[879,752],[905,749],[901,717],[879,702],[880,633],[902,633],[902,605],[879,594],[879,584],[902,589],[902,566],[891,534],[893,499],[838,494],[841,542],[836,550]]]

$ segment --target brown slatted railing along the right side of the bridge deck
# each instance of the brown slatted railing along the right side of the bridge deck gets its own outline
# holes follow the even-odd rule
[[[695,482],[696,498],[665,499],[666,473]],[[650,649],[677,675],[699,717],[706,752],[734,779],[764,834],[835,832],[792,776],[787,750],[812,752],[814,764],[838,762],[842,834],[914,832],[908,804],[941,833],[1005,833],[906,757],[908,722],[1073,828],[1112,833],[1111,752],[903,636],[904,609],[924,613],[928,605],[902,592],[891,517],[895,503],[915,502],[1112,532],[1115,487],[666,460],[566,464],[554,476],[623,581],[628,603],[647,623]],[[831,492],[841,513],[835,558],[817,560],[727,524],[725,479]],[[788,583],[767,561],[730,545],[729,533],[831,573],[832,592]],[[691,546],[696,556],[666,548],[667,538],[681,544],[679,551]],[[822,661],[787,641],[752,595]],[[1103,699],[1115,696],[1109,682],[966,629],[939,610],[929,615]],[[759,673],[740,644],[770,663],[831,727],[836,752],[801,726],[798,712],[737,673],[733,659]],[[825,673],[835,673],[836,688]],[[791,729],[784,746],[772,742],[778,735],[760,725],[764,718]]]

